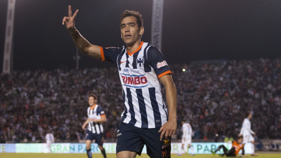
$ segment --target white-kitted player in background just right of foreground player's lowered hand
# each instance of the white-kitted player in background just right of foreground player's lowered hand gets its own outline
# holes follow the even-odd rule
[[[184,150],[184,147],[186,147],[186,151],[188,152],[188,148],[191,150],[191,155],[194,155],[193,147],[191,146],[191,135],[192,135],[192,128],[189,123],[186,123],[185,121],[182,121],[182,139],[181,139],[181,149],[179,150],[179,154],[181,155],[182,150]]]

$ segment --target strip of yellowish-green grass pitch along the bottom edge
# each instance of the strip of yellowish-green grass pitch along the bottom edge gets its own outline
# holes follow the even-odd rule
[[[0,153],[1,158],[87,158],[85,154],[42,154],[42,153]],[[103,158],[102,154],[93,154],[93,158]],[[107,154],[107,158],[115,158],[116,154]],[[220,157],[218,155],[213,156],[212,154],[196,154],[191,156],[190,154],[182,154],[178,156],[177,154],[172,154],[172,158],[216,158]],[[251,155],[246,154],[246,157],[251,157]],[[268,153],[259,153],[257,158],[280,158],[281,154],[268,154]],[[149,158],[147,154],[137,155],[137,158]]]

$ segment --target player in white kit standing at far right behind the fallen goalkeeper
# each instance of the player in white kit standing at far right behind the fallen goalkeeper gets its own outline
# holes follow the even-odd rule
[[[254,131],[251,130],[251,122],[250,119],[252,118],[252,113],[250,111],[246,112],[246,118],[243,121],[242,128],[240,130],[239,135],[243,135],[243,142],[251,142],[252,147],[252,156],[257,156],[258,154],[255,153],[255,140],[253,135],[256,135]]]

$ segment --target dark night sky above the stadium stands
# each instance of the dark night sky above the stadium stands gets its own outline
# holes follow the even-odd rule
[[[83,3],[82,3],[83,2]],[[79,9],[76,28],[92,44],[121,47],[119,17],[143,14],[144,42],[150,42],[152,0],[16,0],[14,69],[74,68],[76,47],[62,18]],[[281,1],[164,0],[162,53],[168,63],[208,59],[280,57]],[[0,68],[7,0],[0,1]],[[80,68],[113,66],[82,56]]]

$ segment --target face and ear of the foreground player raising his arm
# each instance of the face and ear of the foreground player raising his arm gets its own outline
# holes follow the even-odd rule
[[[121,38],[127,47],[133,46],[136,42],[140,42],[140,36],[143,34],[144,28],[138,28],[137,18],[128,16],[121,21]]]

